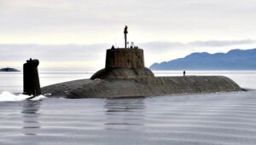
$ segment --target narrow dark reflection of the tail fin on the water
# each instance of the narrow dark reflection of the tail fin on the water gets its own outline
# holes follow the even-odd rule
[[[38,117],[40,113],[38,110],[40,109],[40,101],[25,101],[22,107],[22,117],[23,117],[23,130],[22,132],[26,136],[36,136],[40,124],[38,123]]]

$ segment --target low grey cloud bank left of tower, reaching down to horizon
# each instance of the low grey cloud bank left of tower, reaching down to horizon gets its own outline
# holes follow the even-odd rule
[[[0,44],[0,67],[17,67],[29,58],[38,59],[42,69],[99,69],[104,67],[109,44]]]

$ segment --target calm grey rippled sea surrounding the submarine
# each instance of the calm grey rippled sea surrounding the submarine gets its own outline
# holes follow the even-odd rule
[[[94,72],[41,72],[41,86]],[[181,76],[182,71],[154,72]],[[22,73],[0,73],[0,145],[256,144],[256,71],[187,71],[224,75],[247,92],[125,99],[26,100]]]

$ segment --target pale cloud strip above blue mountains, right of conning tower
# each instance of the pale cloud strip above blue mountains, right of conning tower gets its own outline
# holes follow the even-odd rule
[[[225,53],[230,49],[253,49],[255,45],[256,41],[250,39],[195,41],[189,43],[148,42],[139,44],[144,49],[146,64],[149,66],[154,62],[171,61],[193,52]]]

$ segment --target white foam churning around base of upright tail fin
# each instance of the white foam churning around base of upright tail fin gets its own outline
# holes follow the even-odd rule
[[[20,101],[26,100],[29,97],[31,97],[31,96],[26,96],[23,94],[14,95],[14,94],[10,93],[9,91],[3,91],[0,94],[0,102],[20,102]],[[45,98],[45,96],[36,96],[30,100],[36,101],[36,100],[42,100],[43,98]]]

